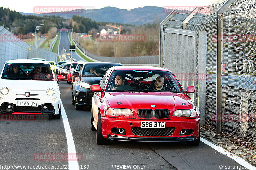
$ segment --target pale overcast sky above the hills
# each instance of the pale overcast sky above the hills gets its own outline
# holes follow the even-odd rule
[[[148,0],[148,1],[140,1],[140,0],[128,0],[128,1],[110,1],[110,0],[1,0],[0,6],[9,7],[12,10],[17,12],[25,12],[25,13],[34,13],[33,7],[35,6],[82,6],[84,9],[91,8],[103,8],[105,6],[112,6],[121,9],[134,9],[138,7],[144,6],[206,6],[212,4],[213,1],[223,1],[223,0]],[[61,3],[60,3],[61,2]]]

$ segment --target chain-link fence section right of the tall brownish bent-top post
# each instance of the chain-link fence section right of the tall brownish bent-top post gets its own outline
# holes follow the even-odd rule
[[[255,142],[256,2],[237,0],[223,13],[222,130]]]

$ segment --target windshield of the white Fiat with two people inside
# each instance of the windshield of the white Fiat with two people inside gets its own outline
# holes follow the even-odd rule
[[[1,79],[54,81],[49,64],[6,63]]]

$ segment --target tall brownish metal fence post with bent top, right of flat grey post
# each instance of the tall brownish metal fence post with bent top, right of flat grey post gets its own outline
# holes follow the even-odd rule
[[[222,51],[223,51],[223,12],[236,0],[228,0],[217,11],[217,87],[216,87],[216,117],[222,117]],[[222,132],[222,120],[216,122],[216,134]]]

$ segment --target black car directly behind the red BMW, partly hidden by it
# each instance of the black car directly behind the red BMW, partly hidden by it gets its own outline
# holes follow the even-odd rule
[[[94,92],[90,90],[90,85],[99,84],[105,72],[112,66],[122,66],[118,63],[110,62],[86,62],[79,72],[73,72],[75,78],[72,84],[72,104],[76,110],[82,110],[84,106],[92,105]]]

